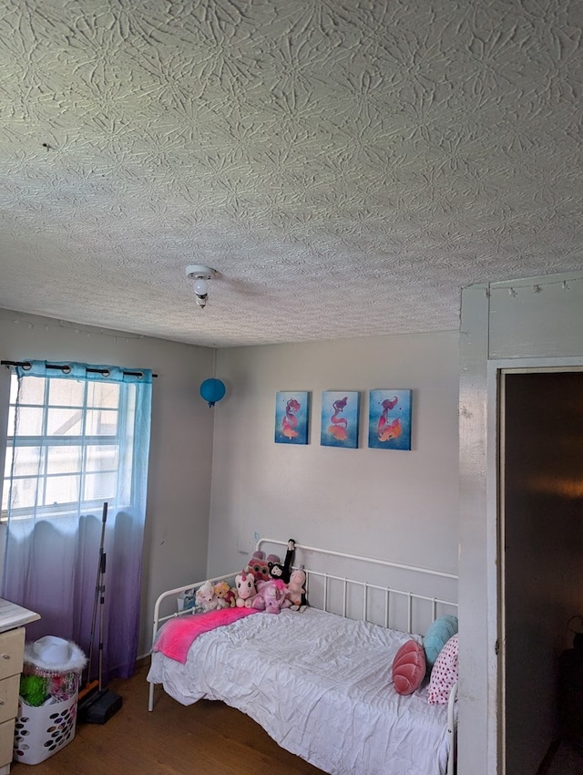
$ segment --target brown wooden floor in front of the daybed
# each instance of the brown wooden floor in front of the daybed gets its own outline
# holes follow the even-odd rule
[[[108,688],[123,707],[105,724],[78,724],[75,738],[40,764],[14,762],[13,775],[318,775],[281,749],[251,718],[220,702],[185,707],[156,688],[148,713],[148,664]]]

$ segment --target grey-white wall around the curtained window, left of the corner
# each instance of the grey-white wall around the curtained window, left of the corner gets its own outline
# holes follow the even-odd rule
[[[152,394],[138,651],[145,654],[156,597],[206,570],[213,416],[199,384],[212,374],[213,351],[0,310],[0,357],[151,368],[159,375]],[[9,378],[9,369],[0,368],[0,463]]]

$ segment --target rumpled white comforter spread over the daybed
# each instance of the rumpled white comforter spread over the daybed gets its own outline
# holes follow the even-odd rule
[[[411,635],[313,608],[257,614],[200,635],[186,665],[152,655],[148,681],[184,705],[220,699],[332,775],[443,775],[445,706],[394,691]]]

